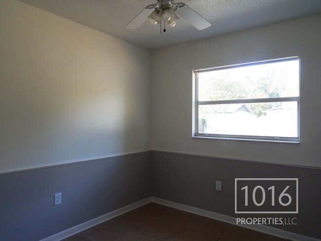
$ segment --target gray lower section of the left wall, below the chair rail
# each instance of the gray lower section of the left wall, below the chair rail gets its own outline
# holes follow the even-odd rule
[[[0,175],[0,240],[38,241],[150,197],[150,155]]]

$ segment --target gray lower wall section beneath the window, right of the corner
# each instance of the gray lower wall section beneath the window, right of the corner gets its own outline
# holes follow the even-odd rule
[[[321,239],[321,170],[152,152],[152,196],[233,217],[297,217],[274,226]],[[298,178],[298,214],[235,214],[235,178]],[[215,190],[222,181],[222,191]]]

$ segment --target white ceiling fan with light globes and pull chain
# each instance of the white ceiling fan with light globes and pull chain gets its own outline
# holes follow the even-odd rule
[[[180,18],[185,19],[198,30],[211,26],[210,22],[183,2],[176,3],[174,0],[157,0],[157,3],[146,6],[125,26],[125,29],[137,29],[147,19],[153,25],[161,24],[161,21],[163,21],[167,25],[174,27],[176,21]]]

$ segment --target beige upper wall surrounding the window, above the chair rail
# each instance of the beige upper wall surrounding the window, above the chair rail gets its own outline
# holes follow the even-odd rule
[[[301,58],[300,144],[191,137],[193,70],[291,56]],[[321,15],[153,51],[152,90],[153,150],[321,167]]]

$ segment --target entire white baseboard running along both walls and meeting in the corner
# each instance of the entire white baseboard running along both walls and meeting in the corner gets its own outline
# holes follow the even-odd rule
[[[208,218],[213,218],[222,222],[226,222],[226,223],[230,223],[230,224],[234,224],[236,225],[236,218],[235,217],[231,217],[231,216],[227,216],[227,215],[223,215],[223,214],[219,214],[216,212],[211,212],[211,211],[206,211],[204,209],[201,208],[197,208],[197,207],[192,207],[192,206],[188,206],[188,205],[184,205],[181,203],[177,203],[177,202],[173,202],[173,201],[167,201],[164,199],[159,199],[159,198],[155,198],[155,197],[150,197],[150,198],[146,198],[143,199],[141,201],[137,201],[135,203],[129,204],[127,206],[121,207],[120,209],[117,209],[115,211],[109,212],[107,214],[104,214],[100,217],[94,218],[92,220],[89,220],[85,223],[79,224],[75,227],[72,227],[70,229],[64,230],[58,234],[52,235],[50,237],[47,237],[43,240],[40,241],[60,241],[63,239],[66,239],[70,236],[73,236],[83,230],[86,230],[88,228],[91,228],[97,224],[100,224],[102,222],[105,222],[109,219],[112,219],[114,217],[117,217],[125,212],[128,212],[130,210],[133,210],[137,207],[140,207],[142,205],[145,205],[149,202],[155,202],[155,203],[159,203],[161,205],[164,206],[169,206],[169,207],[173,207],[179,210],[183,210],[186,212],[190,212],[190,213],[194,213],[194,214],[198,214],[201,216],[205,216]],[[273,235],[273,236],[277,236],[283,239],[289,239],[289,240],[293,240],[293,241],[321,241],[319,239],[315,239],[315,238],[310,238],[307,236],[303,236],[303,235],[299,235],[299,234],[295,234],[295,233],[291,233],[288,231],[284,231],[281,229],[277,229],[274,227],[270,227],[270,226],[265,226],[265,225],[240,225],[244,228],[247,229],[252,229],[255,231],[259,231],[265,234],[269,234],[269,235]]]

